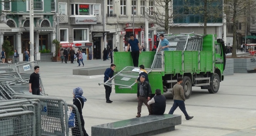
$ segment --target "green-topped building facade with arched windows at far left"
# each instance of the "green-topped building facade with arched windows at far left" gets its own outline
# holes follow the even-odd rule
[[[25,49],[30,50],[29,0],[2,2],[0,10],[1,23],[6,23],[10,27],[10,31],[0,32],[0,45],[4,40],[10,41],[11,46],[20,54],[19,61],[24,61],[22,53]],[[40,60],[39,50],[54,52],[51,42],[56,38],[54,15],[56,0],[34,1],[34,51],[35,56],[39,56],[35,60]],[[2,50],[2,46],[0,49]]]

